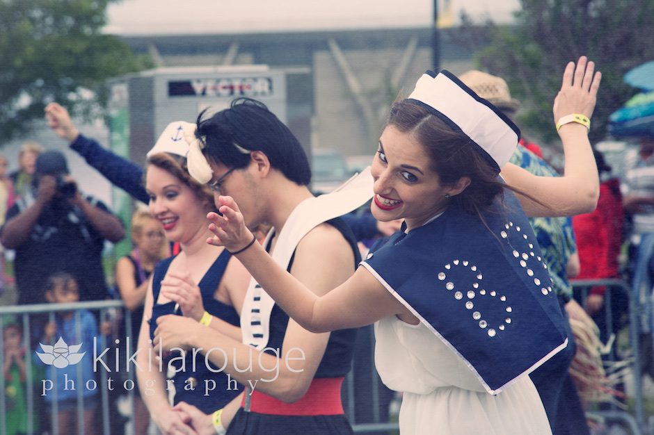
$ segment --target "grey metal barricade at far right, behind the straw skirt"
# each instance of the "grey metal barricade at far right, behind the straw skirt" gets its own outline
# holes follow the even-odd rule
[[[629,328],[629,345],[631,350],[632,363],[630,368],[632,370],[632,385],[633,391],[633,407],[634,415],[632,416],[627,411],[619,409],[616,404],[603,404],[600,410],[589,412],[589,416],[599,416],[607,421],[617,422],[623,426],[624,429],[629,429],[632,434],[650,434],[650,430],[646,425],[644,416],[643,404],[643,390],[642,390],[642,374],[641,374],[641,355],[639,352],[639,337],[641,334],[639,315],[645,309],[641,306],[639,301],[632,297],[630,286],[621,279],[584,279],[571,281],[575,296],[580,299],[580,304],[586,308],[586,302],[590,290],[596,286],[605,286],[604,297],[604,325],[605,337],[612,335],[617,336],[620,331],[614,330],[614,296],[625,297],[628,299],[626,304],[626,320],[625,327]],[[607,361],[617,362],[619,356],[616,350],[616,341],[614,341],[612,349],[607,355]]]

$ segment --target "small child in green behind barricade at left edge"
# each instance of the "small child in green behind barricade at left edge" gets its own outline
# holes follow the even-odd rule
[[[17,323],[9,323],[3,331],[3,377],[5,378],[5,431],[7,435],[26,435],[38,433],[38,418],[29,415],[27,409],[27,364],[23,331]],[[32,365],[31,381],[36,386],[39,368]],[[28,432],[28,421],[32,421]]]

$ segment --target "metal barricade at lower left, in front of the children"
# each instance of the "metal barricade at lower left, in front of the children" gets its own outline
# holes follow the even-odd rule
[[[34,304],[34,305],[17,305],[17,306],[0,306],[0,331],[4,331],[4,327],[7,325],[7,319],[15,317],[16,318],[16,323],[18,325],[22,326],[22,339],[23,339],[23,347],[26,350],[25,355],[24,355],[24,363],[25,363],[25,372],[26,372],[26,411],[27,411],[27,432],[32,433],[34,432],[34,419],[38,418],[40,414],[42,413],[42,410],[36,410],[36,406],[39,403],[37,401],[37,397],[35,397],[35,382],[38,381],[38,379],[32,379],[33,375],[33,364],[35,364],[35,352],[38,350],[39,352],[42,352],[40,349],[40,346],[36,345],[33,342],[32,338],[32,319],[34,316],[42,315],[47,316],[47,321],[51,322],[54,321],[55,318],[55,313],[59,311],[73,311],[74,312],[74,321],[75,321],[75,337],[77,338],[77,343],[80,343],[81,341],[81,336],[82,336],[82,331],[81,331],[81,316],[80,316],[80,311],[81,310],[88,310],[88,311],[93,311],[93,312],[98,312],[99,316],[97,316],[96,320],[98,321],[98,328],[99,325],[102,324],[107,318],[109,318],[109,311],[114,310],[114,309],[119,309],[121,312],[124,313],[123,315],[123,322],[125,322],[125,331],[127,331],[127,336],[131,337],[131,321],[129,317],[129,311],[123,310],[124,305],[122,304],[122,301],[112,301],[112,300],[107,300],[107,301],[93,301],[93,302],[75,302],[71,304]],[[99,329],[98,329],[99,330]],[[4,337],[3,334],[0,334],[0,350],[3,350],[4,343],[3,343]],[[38,341],[38,340],[37,340]],[[97,337],[97,342],[99,343],[100,349],[104,350],[107,346],[107,340],[106,336],[103,334],[99,333]],[[43,343],[43,344],[48,344],[52,345],[54,343]],[[93,344],[90,344],[90,347],[87,347],[88,349],[93,349]],[[83,358],[94,358],[95,359],[95,354],[92,352],[91,355],[84,355]],[[136,385],[136,381],[134,380],[134,370],[129,371],[129,377],[128,379],[131,379],[132,382],[134,382],[134,385]],[[108,391],[108,379],[109,373],[106,372],[106,370],[98,370],[97,373],[97,379],[95,381],[97,384],[99,384],[99,389],[100,389],[100,404],[101,404],[101,415],[102,415],[102,425],[95,425],[95,433],[100,433],[97,428],[102,427],[102,434],[103,435],[110,435],[110,416],[109,416],[109,391]],[[45,382],[45,380],[42,380],[42,382]],[[57,398],[57,385],[56,385],[56,377],[55,379],[52,379],[53,382],[53,387],[51,389],[51,393],[54,394],[53,400],[51,401],[51,415],[50,417],[50,422],[49,424],[51,425],[51,434],[54,435],[67,435],[67,434],[59,434],[58,433],[58,398]],[[98,388],[96,384],[96,388]],[[74,386],[76,388],[76,393],[77,393],[77,418],[75,419],[77,421],[77,433],[83,435],[84,434],[84,418],[83,418],[83,413],[84,413],[84,397],[83,397],[83,388],[85,387],[85,384],[83,382],[82,378],[82,368],[81,364],[77,364],[77,370],[76,370],[76,379],[74,379]],[[43,388],[45,388],[45,384],[43,385]],[[94,388],[95,389],[95,388]],[[0,435],[6,435],[6,416],[7,416],[7,402],[6,402],[6,394],[4,393],[6,391],[6,380],[4,376],[0,376],[0,391],[3,392],[2,395],[0,395]],[[134,400],[134,391],[129,391],[129,399],[132,401]],[[45,402],[45,400],[43,401]],[[37,411],[37,412],[35,412]],[[131,425],[133,425],[133,419],[131,421]],[[134,433],[134,427],[131,427],[131,433]]]

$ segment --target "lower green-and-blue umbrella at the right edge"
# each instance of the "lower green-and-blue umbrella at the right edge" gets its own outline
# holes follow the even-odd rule
[[[612,113],[609,133],[614,138],[654,138],[654,92],[637,94]]]

